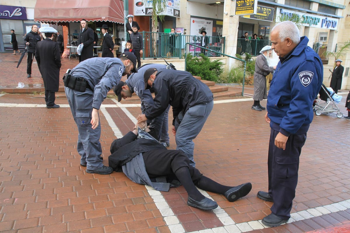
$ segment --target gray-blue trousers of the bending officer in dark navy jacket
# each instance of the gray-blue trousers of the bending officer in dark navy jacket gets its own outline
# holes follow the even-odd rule
[[[214,107],[214,101],[201,103],[190,107],[185,115],[182,112],[177,116],[180,123],[175,120],[176,150],[183,151],[190,160],[190,165],[195,167],[193,151],[195,144],[193,139],[201,132],[205,121]]]

